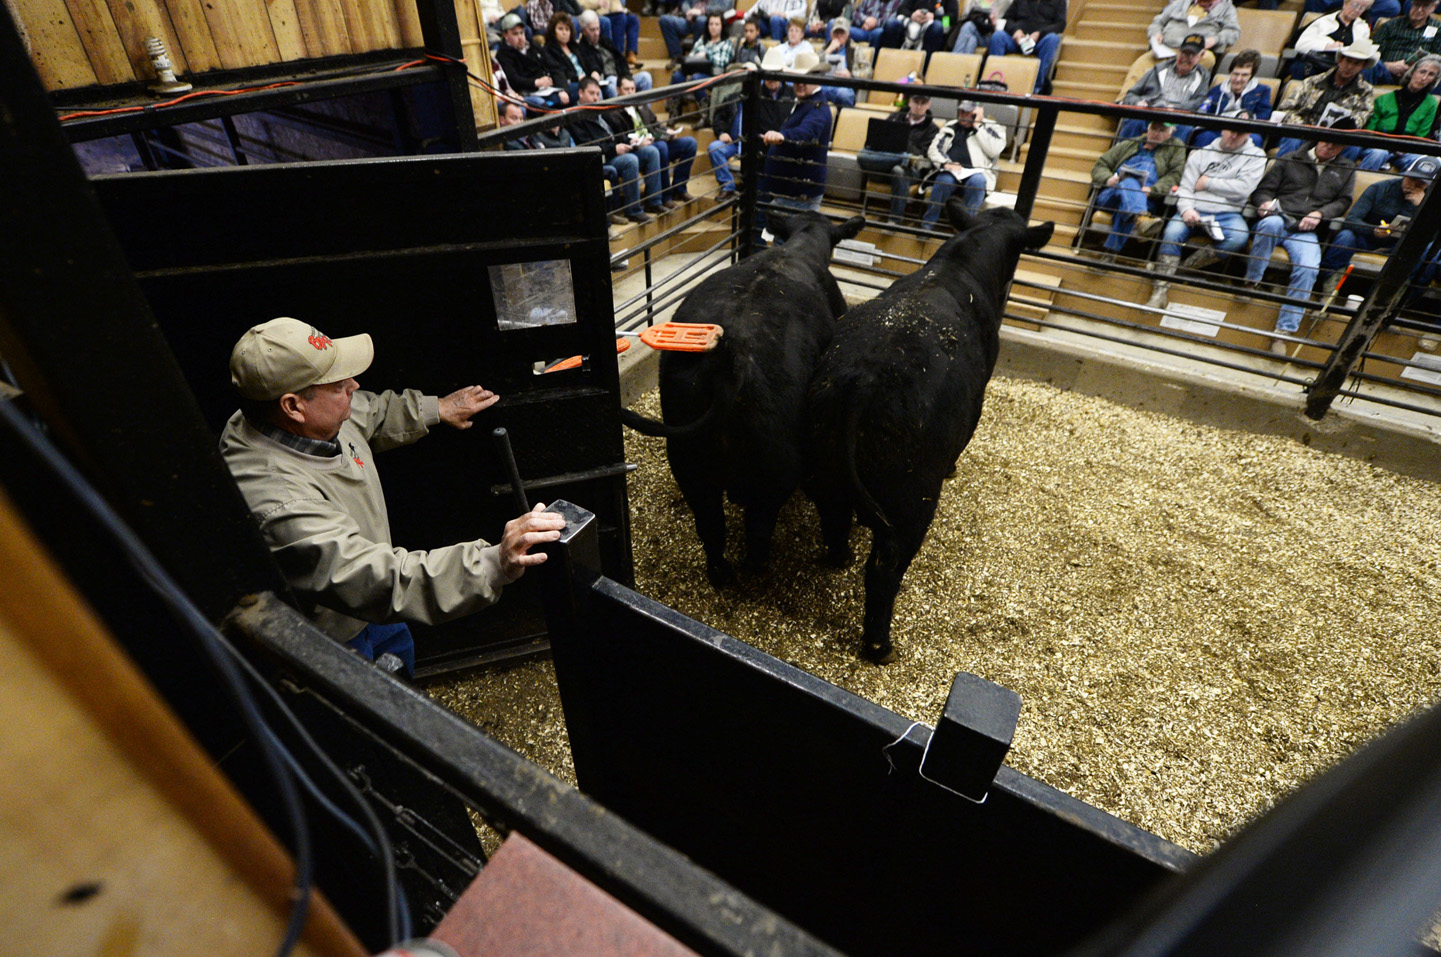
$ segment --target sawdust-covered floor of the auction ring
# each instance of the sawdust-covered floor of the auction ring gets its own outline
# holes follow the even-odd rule
[[[1012,687],[1012,767],[1192,850],[1441,690],[1438,487],[1294,441],[994,380],[885,667],[857,659],[867,530],[821,568],[797,496],[771,574],[716,594],[663,442],[627,448],[641,592],[928,725],[957,672]],[[548,662],[429,690],[574,781]]]

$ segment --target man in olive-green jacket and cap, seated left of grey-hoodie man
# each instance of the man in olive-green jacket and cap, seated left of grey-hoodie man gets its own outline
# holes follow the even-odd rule
[[[1172,135],[1174,131],[1173,124],[1151,120],[1143,135],[1121,140],[1091,167],[1091,183],[1101,187],[1095,205],[1111,210],[1104,262],[1115,261],[1137,219],[1144,218],[1141,235],[1160,228],[1166,197],[1180,186],[1186,167],[1186,147]]]

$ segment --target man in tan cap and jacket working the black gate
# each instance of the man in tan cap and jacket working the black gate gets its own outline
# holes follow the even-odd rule
[[[242,398],[220,435],[235,476],[285,579],[317,628],[367,659],[386,651],[415,670],[405,621],[435,624],[500,598],[565,520],[543,504],[510,520],[499,545],[461,542],[429,551],[391,545],[376,451],[408,445],[432,425],[470,428],[499,396],[468,386],[444,398],[362,392],[369,336],[330,339],[294,319],[248,330],[231,353]]]

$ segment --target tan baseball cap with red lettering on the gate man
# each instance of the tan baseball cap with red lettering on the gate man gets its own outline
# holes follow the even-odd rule
[[[231,350],[231,385],[246,399],[278,399],[311,385],[343,382],[370,368],[370,336],[331,339],[282,316],[254,326]]]

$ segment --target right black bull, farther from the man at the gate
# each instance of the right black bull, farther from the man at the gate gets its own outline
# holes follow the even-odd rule
[[[842,317],[810,388],[804,487],[830,562],[850,561],[853,513],[873,532],[863,640],[876,662],[892,656],[901,577],[980,419],[1016,262],[1053,229],[1010,209],[973,216],[958,199],[945,212],[957,233]]]

